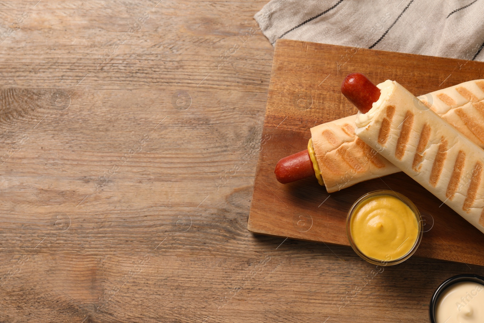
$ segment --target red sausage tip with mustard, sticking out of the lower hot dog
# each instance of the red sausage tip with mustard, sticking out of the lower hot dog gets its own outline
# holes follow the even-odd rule
[[[313,162],[306,150],[284,157],[275,166],[275,177],[279,183],[287,184],[315,175]]]

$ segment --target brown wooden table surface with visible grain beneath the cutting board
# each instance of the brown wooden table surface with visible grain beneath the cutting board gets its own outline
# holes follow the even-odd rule
[[[247,231],[266,2],[2,2],[1,322],[425,322],[484,274]]]

